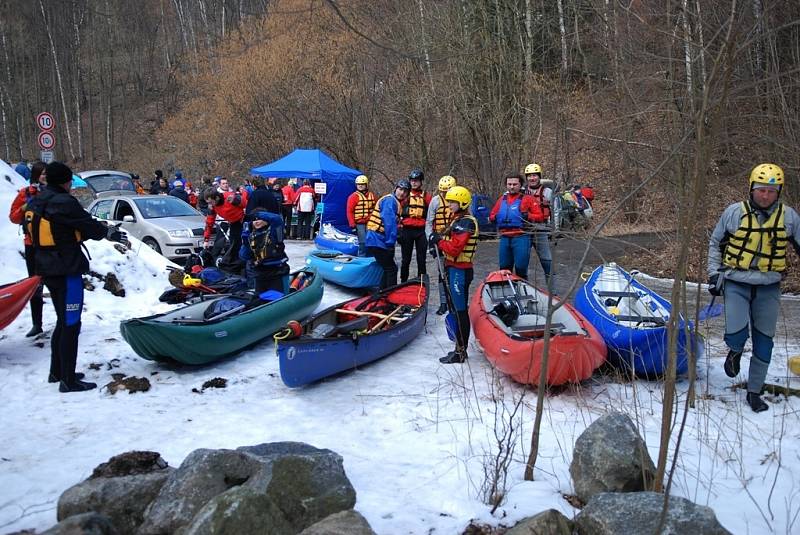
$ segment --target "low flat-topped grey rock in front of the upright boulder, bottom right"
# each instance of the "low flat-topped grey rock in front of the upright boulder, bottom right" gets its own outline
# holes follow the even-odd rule
[[[729,535],[709,507],[671,496],[662,531],[664,495],[656,492],[596,494],[575,518],[581,535]]]

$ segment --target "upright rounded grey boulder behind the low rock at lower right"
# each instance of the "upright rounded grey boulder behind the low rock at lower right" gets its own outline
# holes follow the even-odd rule
[[[583,502],[600,492],[651,487],[655,466],[631,419],[622,413],[595,420],[575,442],[569,473]]]

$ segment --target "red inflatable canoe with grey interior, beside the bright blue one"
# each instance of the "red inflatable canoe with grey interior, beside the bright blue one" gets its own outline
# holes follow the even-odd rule
[[[539,384],[547,301],[545,291],[504,269],[490,273],[470,302],[476,342],[495,368],[519,383]],[[588,379],[605,361],[600,333],[568,303],[553,313],[549,331],[548,385]]]

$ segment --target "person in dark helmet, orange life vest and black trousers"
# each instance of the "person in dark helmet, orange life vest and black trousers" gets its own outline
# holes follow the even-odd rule
[[[414,169],[408,174],[411,192],[403,202],[400,233],[397,236],[401,254],[400,282],[408,280],[411,256],[415,250],[417,253],[417,276],[427,273],[425,250],[428,248],[428,239],[425,237],[425,220],[428,206],[431,204],[431,194],[422,190],[423,180],[425,180],[425,175],[420,169]]]

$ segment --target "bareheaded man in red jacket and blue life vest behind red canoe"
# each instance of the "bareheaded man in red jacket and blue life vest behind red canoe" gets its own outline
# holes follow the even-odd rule
[[[500,269],[513,269],[516,275],[527,279],[531,238],[525,226],[529,221],[543,223],[545,217],[539,204],[530,195],[522,193],[521,187],[522,178],[519,175],[506,177],[507,191],[497,199],[489,213],[489,221],[497,223],[500,234]]]

